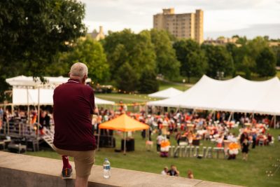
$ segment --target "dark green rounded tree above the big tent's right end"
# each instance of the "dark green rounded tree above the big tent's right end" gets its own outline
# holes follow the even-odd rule
[[[262,76],[274,76],[276,74],[276,57],[270,48],[263,48],[256,57],[256,72]]]

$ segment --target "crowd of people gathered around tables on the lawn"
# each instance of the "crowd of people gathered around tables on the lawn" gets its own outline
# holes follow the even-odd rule
[[[166,157],[171,145],[170,139],[173,137],[176,139],[176,144],[182,146],[199,146],[201,140],[209,140],[214,143],[214,146],[224,148],[228,159],[235,159],[240,150],[244,160],[248,159],[250,148],[268,146],[274,142],[272,134],[267,132],[267,127],[270,124],[267,117],[249,118],[249,116],[237,115],[229,121],[228,114],[224,112],[169,111],[151,113],[151,111],[146,111],[143,108],[138,113],[132,113],[127,111],[125,105],[120,105],[115,111],[113,109],[97,108],[92,118],[94,133],[97,133],[99,124],[127,113],[128,116],[150,126],[148,134],[144,130],[141,132],[141,136],[144,139],[147,138],[148,141],[155,141],[157,152]],[[10,111],[3,111],[1,108],[0,117],[3,118],[3,122],[13,120],[13,118],[27,119],[27,111],[17,109],[11,115]],[[36,109],[30,110],[29,120],[31,124],[38,120]],[[43,133],[43,127],[50,129],[52,114],[48,110],[41,110],[39,123],[41,133]],[[234,127],[239,127],[239,131],[232,131]],[[152,140],[152,137],[156,138]],[[278,139],[280,139],[280,135]]]

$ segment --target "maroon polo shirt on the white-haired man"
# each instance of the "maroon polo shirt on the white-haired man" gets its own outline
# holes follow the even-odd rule
[[[95,148],[91,114],[94,92],[89,85],[69,79],[53,93],[53,118],[57,148],[70,151],[90,151]]]

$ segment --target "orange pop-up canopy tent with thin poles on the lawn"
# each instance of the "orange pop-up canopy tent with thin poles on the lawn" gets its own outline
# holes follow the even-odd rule
[[[99,125],[97,149],[99,148],[100,129],[120,130],[125,133],[125,132],[136,131],[136,130],[147,130],[148,128],[149,128],[148,125],[141,123],[138,120],[134,120],[129,116],[127,116],[126,114],[118,116],[113,120],[106,121],[105,123]],[[126,149],[126,141],[124,141],[124,153],[125,153],[125,149]]]

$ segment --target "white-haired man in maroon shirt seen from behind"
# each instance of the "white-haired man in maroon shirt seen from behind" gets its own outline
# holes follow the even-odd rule
[[[62,155],[62,179],[71,179],[72,167],[68,156],[74,158],[75,186],[87,186],[94,163],[95,139],[92,132],[94,92],[85,85],[87,66],[77,62],[69,72],[69,81],[55,88],[53,117],[55,139],[53,148]]]

